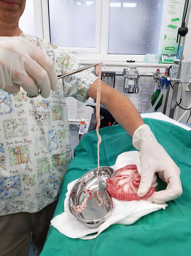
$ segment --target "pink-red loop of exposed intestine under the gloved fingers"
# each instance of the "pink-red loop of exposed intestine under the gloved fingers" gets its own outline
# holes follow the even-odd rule
[[[154,193],[154,187],[151,187],[147,195],[138,197],[137,192],[141,177],[135,164],[127,165],[115,171],[113,177],[106,180],[108,193],[118,199],[125,201],[147,199]]]

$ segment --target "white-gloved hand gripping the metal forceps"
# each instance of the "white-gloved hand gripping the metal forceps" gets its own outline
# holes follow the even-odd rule
[[[58,90],[53,61],[35,45],[20,37],[0,37],[0,89],[16,94],[20,86],[34,96],[47,98]]]

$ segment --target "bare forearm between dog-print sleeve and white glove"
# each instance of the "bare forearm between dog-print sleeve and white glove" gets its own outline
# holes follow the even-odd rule
[[[102,83],[101,104],[112,114],[115,120],[131,135],[144,124],[132,102],[117,90]],[[97,80],[88,90],[88,95],[96,99]]]

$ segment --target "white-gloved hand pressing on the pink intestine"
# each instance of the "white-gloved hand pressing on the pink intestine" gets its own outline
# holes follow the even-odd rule
[[[138,196],[143,197],[150,190],[155,173],[167,183],[166,190],[154,192],[147,200],[163,203],[174,200],[182,194],[180,169],[157,142],[147,124],[141,125],[133,135],[133,146],[140,150],[141,182]]]

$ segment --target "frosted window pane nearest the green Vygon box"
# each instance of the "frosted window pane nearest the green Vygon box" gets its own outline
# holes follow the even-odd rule
[[[111,0],[109,51],[158,53],[164,0]]]

